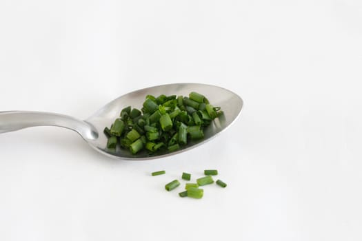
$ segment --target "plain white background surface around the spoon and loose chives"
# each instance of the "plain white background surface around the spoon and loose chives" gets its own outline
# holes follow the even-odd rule
[[[158,160],[57,127],[1,134],[0,240],[361,240],[361,78],[359,0],[0,0],[0,110],[85,119],[182,82],[245,101],[220,136]],[[208,168],[228,187],[164,190]]]

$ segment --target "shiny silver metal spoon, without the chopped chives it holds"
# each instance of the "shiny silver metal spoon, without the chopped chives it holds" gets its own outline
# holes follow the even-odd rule
[[[185,147],[181,147],[181,149],[174,152],[164,151],[149,154],[147,151],[140,151],[138,154],[132,155],[128,149],[117,148],[115,151],[107,149],[107,137],[103,134],[103,129],[106,126],[110,127],[114,119],[119,116],[121,109],[129,105],[137,108],[141,107],[145,96],[148,94],[153,96],[159,96],[160,94],[165,94],[166,96],[187,96],[190,92],[199,92],[205,95],[212,105],[219,106],[221,110],[223,110],[223,115],[216,118],[211,125],[204,129],[205,138],[191,141]],[[65,127],[80,134],[91,147],[106,156],[128,160],[149,160],[179,154],[182,151],[205,143],[233,123],[239,116],[242,107],[243,100],[237,94],[234,94],[230,90],[225,90],[222,87],[198,83],[159,85],[130,92],[116,98],[85,121],[78,120],[72,116],[48,112],[0,112],[0,133],[14,132],[23,128],[44,125]]]

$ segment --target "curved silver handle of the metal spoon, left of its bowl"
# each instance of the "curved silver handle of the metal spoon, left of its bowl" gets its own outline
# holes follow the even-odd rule
[[[48,112],[0,112],[0,133],[14,132],[19,129],[45,125],[72,129],[86,140],[98,138],[97,129],[90,125],[90,123],[78,120],[72,116]]]

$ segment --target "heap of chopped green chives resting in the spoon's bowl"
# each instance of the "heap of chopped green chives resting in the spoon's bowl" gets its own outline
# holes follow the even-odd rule
[[[145,96],[141,110],[125,107],[111,127],[105,127],[107,148],[117,145],[132,154],[147,150],[177,151],[190,140],[204,137],[203,129],[222,114],[205,96],[191,92],[186,96]]]

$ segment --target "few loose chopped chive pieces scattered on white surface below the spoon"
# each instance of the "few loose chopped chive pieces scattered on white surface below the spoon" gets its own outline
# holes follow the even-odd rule
[[[158,176],[161,174],[165,174],[165,171],[154,171],[151,173],[152,176]],[[201,178],[197,178],[197,183],[191,183],[188,182],[185,184],[185,191],[181,191],[179,192],[179,196],[181,198],[185,198],[185,197],[189,197],[189,198],[197,198],[200,199],[203,197],[203,189],[199,188],[199,186],[204,186],[204,185],[209,185],[214,183],[214,180],[212,179],[212,176],[216,176],[218,175],[218,171],[217,170],[204,170],[204,174],[208,175],[208,176],[203,176]],[[182,173],[181,179],[183,180],[190,180],[191,179],[191,174]],[[216,181],[216,184],[219,185],[220,187],[226,187],[226,183],[223,182],[222,180],[218,179]],[[168,184],[165,185],[165,189],[167,191],[172,191],[173,189],[176,189],[177,187],[179,187],[179,185],[181,185],[181,183],[179,182],[179,180],[175,179],[172,180],[172,182],[169,182]]]

